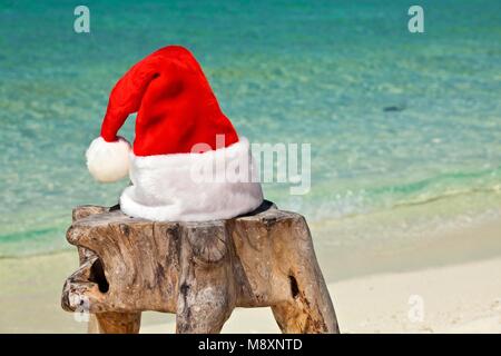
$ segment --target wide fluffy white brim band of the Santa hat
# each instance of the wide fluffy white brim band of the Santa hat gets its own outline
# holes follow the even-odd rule
[[[200,167],[215,167],[216,174],[237,168],[252,177],[239,181],[200,180],[194,176]],[[203,154],[148,157],[130,154],[130,179],[132,185],[121,194],[120,209],[149,220],[228,219],[249,212],[263,202],[263,191],[245,138],[227,148]]]

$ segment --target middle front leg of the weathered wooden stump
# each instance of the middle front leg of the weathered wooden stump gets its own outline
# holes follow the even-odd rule
[[[234,277],[225,226],[185,226],[176,333],[217,334],[235,306]]]

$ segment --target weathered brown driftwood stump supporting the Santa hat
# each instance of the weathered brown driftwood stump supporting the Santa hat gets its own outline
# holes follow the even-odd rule
[[[305,219],[265,201],[207,222],[154,222],[119,209],[73,210],[80,268],[62,307],[82,303],[90,333],[138,333],[140,313],[176,314],[177,333],[218,333],[235,307],[272,307],[283,333],[338,333]]]

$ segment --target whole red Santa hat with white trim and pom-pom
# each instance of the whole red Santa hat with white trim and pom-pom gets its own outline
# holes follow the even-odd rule
[[[131,147],[118,130],[134,112]],[[130,216],[225,219],[263,201],[248,141],[220,110],[195,57],[179,46],[149,55],[116,83],[100,137],[86,156],[97,180],[129,174],[132,185],[121,194],[120,208]]]

